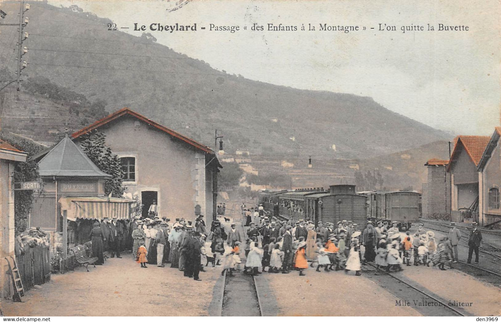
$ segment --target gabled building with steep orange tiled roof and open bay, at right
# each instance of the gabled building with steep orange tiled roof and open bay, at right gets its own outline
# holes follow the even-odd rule
[[[477,167],[489,140],[488,136],[469,135],[459,135],[454,140],[454,149],[447,165],[447,172],[450,173],[453,214],[461,208],[477,208]],[[477,220],[478,213],[474,216],[473,219]]]

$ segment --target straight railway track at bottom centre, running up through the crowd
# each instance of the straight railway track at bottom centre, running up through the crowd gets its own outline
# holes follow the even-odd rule
[[[228,209],[226,209],[228,210]],[[233,204],[233,209],[231,209],[231,217],[233,218],[233,223],[238,227],[247,239],[247,234],[243,227],[242,214],[239,209],[236,210]],[[241,251],[244,248],[244,241],[240,245]],[[245,259],[242,259],[243,265]],[[232,277],[226,276],[226,271],[223,274],[223,288],[222,288],[222,300],[220,307],[220,316],[264,316],[262,309],[262,302],[260,297],[260,290],[256,283],[256,276],[243,274],[241,272],[236,272]]]

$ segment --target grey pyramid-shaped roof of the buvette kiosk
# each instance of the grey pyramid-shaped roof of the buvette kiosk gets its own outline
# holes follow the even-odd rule
[[[40,176],[110,178],[65,137],[38,163]]]

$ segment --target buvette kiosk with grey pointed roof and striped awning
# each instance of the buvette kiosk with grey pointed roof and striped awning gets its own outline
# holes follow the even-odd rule
[[[102,219],[108,214],[129,217],[130,200],[105,196],[109,174],[101,171],[66,135],[38,163],[43,189],[36,194],[30,226],[51,233],[53,247],[66,255],[67,219]],[[62,238],[62,240],[61,240]]]

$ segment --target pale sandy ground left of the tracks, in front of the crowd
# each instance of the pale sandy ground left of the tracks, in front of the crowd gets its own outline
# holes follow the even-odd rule
[[[105,265],[78,267],[53,274],[42,289],[27,292],[28,302],[2,301],[5,315],[27,316],[206,316],[217,310],[219,266],[200,272],[201,281],[177,268],[140,268],[130,253],[109,258]]]

